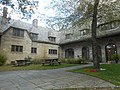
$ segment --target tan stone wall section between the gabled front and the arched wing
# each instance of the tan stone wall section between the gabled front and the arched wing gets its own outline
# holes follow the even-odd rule
[[[40,43],[40,42],[32,42],[32,47],[37,48],[36,54],[31,54],[32,58],[39,58],[39,59],[49,59],[49,58],[58,58],[57,54],[49,54],[49,49],[55,49],[58,51],[58,45],[47,44],[47,43]]]

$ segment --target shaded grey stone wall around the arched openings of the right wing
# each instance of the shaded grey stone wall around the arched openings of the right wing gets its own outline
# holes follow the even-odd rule
[[[113,43],[117,46],[117,53],[120,54],[120,36],[119,34],[116,36],[109,36],[109,37],[103,37],[97,39],[98,45],[101,47],[101,53],[102,53],[102,62],[106,62],[106,51],[105,46]],[[79,42],[73,42],[69,44],[63,44],[61,45],[61,58],[65,58],[65,50],[68,48],[74,49],[74,58],[78,58],[77,55],[82,58],[82,48],[88,47],[89,48],[89,58],[92,60],[92,44],[90,41],[79,41]]]

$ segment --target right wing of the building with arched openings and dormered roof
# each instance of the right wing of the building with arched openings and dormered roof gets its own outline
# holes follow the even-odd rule
[[[92,60],[91,30],[72,27],[60,31],[61,56]],[[113,54],[120,54],[120,20],[114,20],[97,27],[98,59],[111,60]]]

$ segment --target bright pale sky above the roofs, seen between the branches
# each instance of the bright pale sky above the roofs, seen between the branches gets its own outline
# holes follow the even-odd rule
[[[36,7],[32,7],[34,14],[28,14],[24,15],[19,9],[19,1],[22,0],[10,0],[11,4],[14,4],[14,9],[11,8],[10,5],[3,5],[1,1],[5,0],[0,0],[0,16],[2,16],[3,12],[3,7],[8,8],[8,17],[16,20],[21,20],[23,22],[27,22],[32,24],[33,19],[38,19],[38,25],[42,27],[48,27],[52,28],[50,25],[52,22],[49,22],[50,19],[55,18],[65,18],[69,16],[74,10],[72,6],[74,6],[74,3],[77,0],[27,0],[27,1],[38,1],[39,3],[36,4]],[[71,1],[73,1],[71,3]],[[21,2],[20,2],[21,3]],[[51,4],[52,3],[52,4]],[[25,5],[25,3],[24,3]],[[53,7],[54,5],[57,5],[57,7]],[[27,13],[31,13],[30,8],[31,6],[26,4],[26,11]],[[47,7],[47,8],[46,8]],[[64,8],[63,8],[64,7]],[[54,9],[53,9],[54,8]],[[53,22],[54,24],[54,22]],[[53,29],[53,28],[52,28]],[[54,29],[59,30],[59,27],[57,25],[54,25]]]

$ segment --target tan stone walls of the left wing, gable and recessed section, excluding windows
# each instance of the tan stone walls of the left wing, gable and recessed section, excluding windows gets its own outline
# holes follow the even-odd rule
[[[7,64],[14,60],[23,60],[28,56],[33,59],[58,58],[58,53],[55,55],[48,53],[49,49],[56,49],[58,52],[58,45],[32,42],[26,30],[24,31],[24,37],[13,36],[12,31],[13,29],[10,28],[1,37],[1,52],[4,52],[7,56]],[[12,52],[11,45],[23,46],[23,52]],[[37,53],[31,53],[31,47],[37,48]]]

